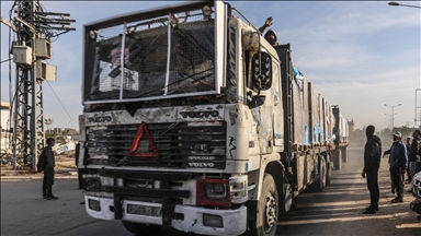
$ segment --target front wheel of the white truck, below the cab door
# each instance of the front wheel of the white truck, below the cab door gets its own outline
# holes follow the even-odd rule
[[[250,225],[250,235],[274,236],[278,219],[278,194],[272,175],[264,174],[258,202],[257,221]]]

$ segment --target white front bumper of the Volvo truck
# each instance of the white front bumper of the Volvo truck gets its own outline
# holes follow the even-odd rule
[[[100,211],[90,209],[89,200],[100,203]],[[114,220],[114,199],[84,196],[87,213],[100,220]],[[162,208],[161,203],[140,202],[122,200],[123,221],[137,222],[143,224],[163,225],[162,216],[150,216],[127,213],[127,204],[136,204],[151,208]],[[198,206],[177,204],[174,214],[182,214],[183,220],[172,220],[171,226],[178,231],[192,232],[203,235],[240,235],[247,227],[247,206],[236,210],[213,210]],[[217,215],[223,219],[223,227],[206,226],[203,222],[204,214]]]

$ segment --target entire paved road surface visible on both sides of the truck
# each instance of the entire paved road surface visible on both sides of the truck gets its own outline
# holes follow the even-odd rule
[[[405,202],[391,204],[387,162],[379,173],[380,211],[363,215],[368,205],[368,190],[361,177],[362,150],[350,149],[350,161],[334,170],[323,192],[305,192],[297,206],[281,215],[276,235],[421,235],[421,221],[409,210],[412,200],[406,192]],[[57,179],[55,194],[60,199],[41,198],[39,179],[1,179],[1,235],[132,235],[120,221],[98,221],[84,212],[82,191],[77,179]],[[164,228],[161,235],[180,234]]]

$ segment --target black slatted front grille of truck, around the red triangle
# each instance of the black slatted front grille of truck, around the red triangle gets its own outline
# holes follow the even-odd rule
[[[152,143],[144,133],[135,153],[158,157],[133,157],[129,149],[139,125],[107,126],[87,130],[88,162],[100,165],[168,168],[218,168],[226,166],[226,122],[147,123]]]

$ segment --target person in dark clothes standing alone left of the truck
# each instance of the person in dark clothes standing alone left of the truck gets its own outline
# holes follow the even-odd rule
[[[43,196],[47,200],[57,200],[58,198],[53,194],[53,185],[54,185],[54,167],[56,166],[56,161],[54,157],[53,146],[56,140],[53,138],[47,139],[47,146],[43,150],[45,155],[45,169],[44,169],[44,179],[43,179]]]

